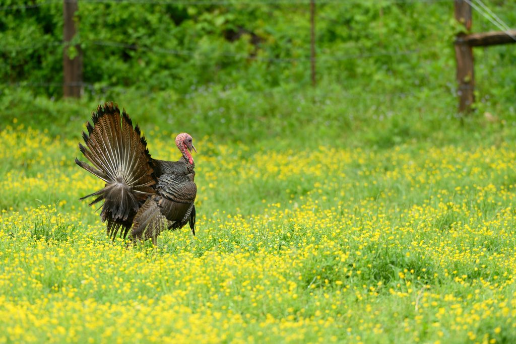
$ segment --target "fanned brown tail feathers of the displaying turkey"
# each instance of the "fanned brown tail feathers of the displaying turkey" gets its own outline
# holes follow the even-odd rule
[[[113,103],[99,105],[93,113],[92,124],[88,122],[86,128],[88,134],[83,132],[86,146],[79,144],[79,150],[94,167],[77,159],[75,162],[101,178],[106,186],[84,198],[98,196],[90,205],[104,201],[101,217],[103,221],[114,221],[108,222],[107,228],[108,234],[114,236],[119,230],[115,223],[128,221],[131,227],[139,205],[154,193],[151,186],[156,184],[156,179],[152,158],[139,127],[133,128],[127,113],[120,114]]]

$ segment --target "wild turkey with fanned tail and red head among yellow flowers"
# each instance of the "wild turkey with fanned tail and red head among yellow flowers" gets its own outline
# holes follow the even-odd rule
[[[125,239],[131,230],[133,241],[151,238],[156,244],[165,228],[175,230],[186,223],[195,236],[197,186],[191,151],[197,150],[192,137],[182,133],[175,138],[183,154],[179,161],[157,160],[151,158],[138,125],[133,128],[117,105],[99,105],[92,122],[86,124],[88,134],[83,132],[86,146],[79,143],[79,150],[93,166],[77,158],[75,163],[106,184],[80,200],[96,196],[90,206],[104,201],[100,216],[107,221],[108,236],[115,238],[120,231]]]

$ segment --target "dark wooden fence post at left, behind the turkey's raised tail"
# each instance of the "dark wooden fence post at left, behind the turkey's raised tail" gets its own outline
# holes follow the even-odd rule
[[[63,0],[63,97],[80,97],[83,83],[83,53],[76,45],[77,55],[70,59],[70,41],[76,33],[73,17],[77,11],[77,0]]]

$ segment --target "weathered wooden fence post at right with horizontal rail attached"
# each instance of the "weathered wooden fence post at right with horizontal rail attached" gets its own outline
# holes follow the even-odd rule
[[[471,30],[471,6],[464,0],[455,0],[455,19],[462,23],[467,32]],[[455,41],[457,59],[457,81],[459,83],[459,112],[471,111],[475,101],[475,75],[473,71],[473,49],[463,41],[467,34],[460,32]]]

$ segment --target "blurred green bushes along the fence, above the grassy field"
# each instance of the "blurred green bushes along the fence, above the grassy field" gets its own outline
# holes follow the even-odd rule
[[[170,3],[79,1],[75,42],[84,51],[85,83],[182,93],[206,84],[256,90],[310,83],[307,1]],[[62,2],[0,4],[0,78],[59,84]],[[516,22],[514,2],[488,4]],[[475,18],[474,29],[485,21]],[[317,4],[318,78],[346,87],[450,87],[459,29],[451,1]],[[489,63],[511,62],[514,54],[499,53]],[[42,91],[59,95],[60,88]]]

